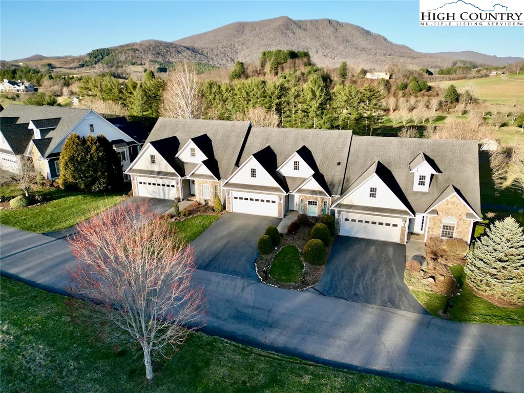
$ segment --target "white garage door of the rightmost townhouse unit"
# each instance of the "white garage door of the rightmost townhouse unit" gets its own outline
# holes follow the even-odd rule
[[[401,227],[401,219],[343,213],[340,234],[398,243]]]

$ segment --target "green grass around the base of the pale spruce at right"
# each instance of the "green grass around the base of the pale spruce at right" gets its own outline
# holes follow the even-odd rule
[[[501,308],[475,296],[467,285],[464,285],[464,266],[452,266],[453,277],[462,288],[460,296],[454,296],[451,301],[453,308],[449,309],[451,320],[470,323],[492,323],[496,325],[524,325],[524,307],[519,309]],[[422,291],[412,291],[413,296],[433,315],[443,310],[446,297],[441,294]]]

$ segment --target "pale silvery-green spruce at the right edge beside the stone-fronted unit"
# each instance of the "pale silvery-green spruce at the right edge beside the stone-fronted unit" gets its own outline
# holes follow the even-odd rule
[[[468,285],[479,295],[524,305],[524,233],[517,221],[496,221],[467,255]]]

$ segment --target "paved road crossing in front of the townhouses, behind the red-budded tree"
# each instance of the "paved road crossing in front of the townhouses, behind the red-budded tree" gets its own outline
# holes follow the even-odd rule
[[[5,226],[0,236],[2,275],[67,287],[67,265],[74,264],[67,242]],[[209,296],[207,333],[430,385],[524,391],[522,326],[454,323],[205,270],[195,279]]]

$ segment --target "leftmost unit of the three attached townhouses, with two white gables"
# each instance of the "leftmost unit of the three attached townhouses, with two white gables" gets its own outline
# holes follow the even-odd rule
[[[231,176],[251,128],[249,122],[159,118],[126,173],[133,194],[214,203]]]

